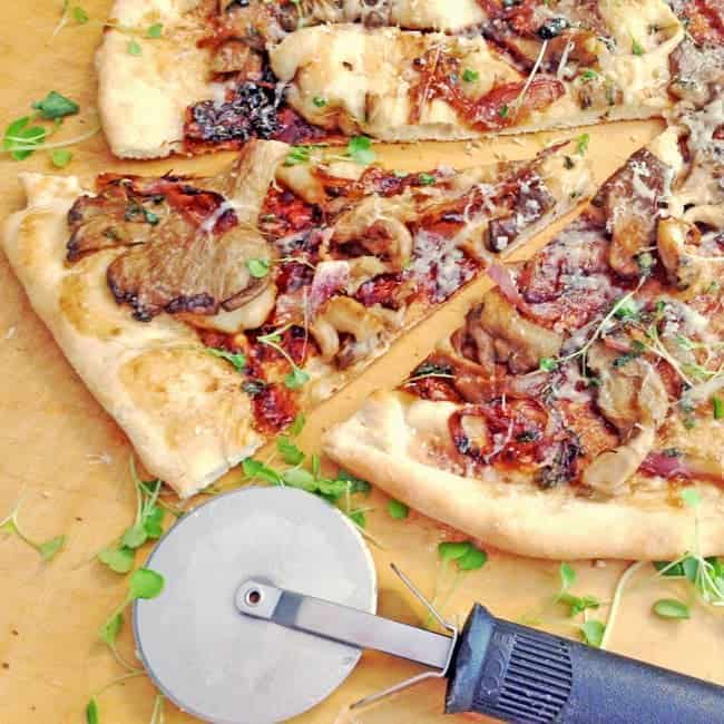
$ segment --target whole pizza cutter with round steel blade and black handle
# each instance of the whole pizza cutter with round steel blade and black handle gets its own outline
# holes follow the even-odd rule
[[[166,587],[135,604],[139,655],[158,688],[206,722],[268,724],[305,712],[364,648],[428,671],[354,706],[444,676],[446,712],[506,722],[724,717],[722,687],[501,620],[479,604],[458,632],[400,571],[448,634],[375,616],[375,570],[360,534],[301,490],[216,497],[182,518],[147,566]]]

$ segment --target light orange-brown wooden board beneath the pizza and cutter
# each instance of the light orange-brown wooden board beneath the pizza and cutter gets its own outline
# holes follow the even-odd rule
[[[58,138],[87,131],[97,124],[94,50],[110,0],[86,0],[91,20],[70,23],[56,37],[61,0],[6,3],[0,33],[0,123],[26,115],[33,100],[58,90],[81,104],[79,118],[70,119]],[[72,2],[71,2],[72,4]],[[143,62],[143,58],[139,59]],[[637,147],[649,140],[658,123],[617,124],[587,129],[589,156],[601,182]],[[531,156],[554,138],[580,131],[530,136],[521,140],[464,144],[419,144],[380,148],[379,157],[392,168],[420,170],[437,164],[469,166],[499,158]],[[74,149],[74,160],[60,173],[87,179],[101,170],[158,174],[218,168],[228,155],[198,159],[174,158],[155,163],[121,163],[108,151],[102,135]],[[52,173],[45,153],[17,163],[2,157],[0,216],[18,209],[22,195],[20,172]],[[537,239],[526,251],[540,246]],[[519,254],[521,256],[521,254]],[[466,305],[488,288],[472,284],[446,309],[401,340],[382,361],[341,394],[310,415],[302,447],[317,449],[320,433],[352,413],[372,390],[400,381],[422,359],[437,339],[453,330]],[[129,525],[134,493],[128,476],[131,449],[123,432],[105,414],[76,376],[61,352],[35,316],[22,288],[0,254],[0,520],[23,498],[20,520],[39,540],[65,534],[66,549],[50,564],[14,537],[0,534],[0,722],[74,723],[82,721],[92,692],[120,676],[123,669],[97,639],[98,626],[124,597],[125,577],[94,560],[95,554]],[[241,481],[231,473],[226,483]],[[391,577],[394,560],[428,594],[432,594],[438,561],[437,544],[449,531],[417,515],[395,521],[387,513],[387,498],[374,492],[369,501],[369,530],[383,549],[373,547],[380,576],[380,613],[419,623],[421,610]],[[485,545],[485,544],[483,544]],[[139,560],[147,551],[141,551]],[[520,618],[539,615],[550,630],[576,636],[575,622],[565,618],[551,597],[558,588],[555,562],[516,558],[489,550],[490,560],[470,574],[446,613],[464,616],[473,600],[497,615]],[[575,591],[609,600],[624,568],[619,562],[574,564]],[[718,638],[722,622],[701,606],[691,620],[672,623],[655,618],[650,605],[676,594],[676,583],[650,580],[650,568],[636,576],[627,589],[615,625],[612,648],[659,665],[724,684],[724,657]],[[594,612],[605,620],[608,609]],[[134,657],[130,632],[120,637],[127,658]],[[360,722],[397,724],[442,722],[443,685],[425,684],[378,706],[350,716],[345,706],[420,669],[388,656],[365,653],[344,686],[327,702],[300,717],[300,724]],[[112,724],[147,722],[155,692],[146,678],[110,688],[100,697],[101,721]],[[166,722],[193,721],[166,705]],[[447,722],[456,721],[452,717]],[[458,720],[461,721],[461,720]]]

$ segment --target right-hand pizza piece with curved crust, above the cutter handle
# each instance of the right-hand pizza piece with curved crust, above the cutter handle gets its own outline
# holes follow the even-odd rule
[[[724,100],[711,91],[532,258],[493,264],[497,287],[332,429],[326,453],[516,554],[674,559],[695,515],[698,552],[721,552]]]

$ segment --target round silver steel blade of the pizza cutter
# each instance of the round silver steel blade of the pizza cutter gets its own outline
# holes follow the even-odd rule
[[[292,488],[245,488],[196,508],[160,539],[148,568],[166,586],[134,607],[139,655],[182,710],[216,724],[266,724],[311,708],[359,648],[238,613],[239,584],[266,579],[374,613],[374,565],[354,526]]]

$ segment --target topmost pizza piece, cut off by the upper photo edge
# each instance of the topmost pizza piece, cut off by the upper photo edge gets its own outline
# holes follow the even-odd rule
[[[704,28],[704,0],[678,14],[664,0],[117,0],[99,109],[114,153],[138,158],[652,118],[676,98],[689,6]],[[129,52],[146,28],[163,32]]]

